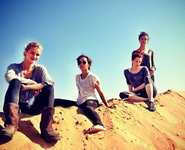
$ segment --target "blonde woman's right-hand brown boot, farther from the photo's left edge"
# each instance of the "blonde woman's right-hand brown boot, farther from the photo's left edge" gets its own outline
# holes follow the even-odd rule
[[[56,134],[52,128],[54,110],[54,107],[46,107],[42,110],[40,122],[41,137],[47,143],[57,142],[60,140],[59,135]]]

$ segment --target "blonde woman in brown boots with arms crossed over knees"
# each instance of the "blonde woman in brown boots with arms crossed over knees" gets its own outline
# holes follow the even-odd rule
[[[18,129],[19,109],[31,115],[42,113],[41,137],[49,143],[60,140],[52,128],[54,82],[43,65],[35,64],[41,53],[42,46],[38,42],[30,42],[24,49],[23,62],[7,68],[5,79],[9,86],[3,106],[5,128],[0,131],[2,140],[11,140]]]

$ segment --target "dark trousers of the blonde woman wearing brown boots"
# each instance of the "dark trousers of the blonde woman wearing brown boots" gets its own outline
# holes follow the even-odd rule
[[[21,82],[18,79],[10,81],[7,92],[5,94],[4,106],[8,103],[18,104],[21,112],[31,115],[40,114],[45,107],[53,107],[54,105],[54,88],[52,85],[47,85],[42,88],[35,102],[29,109],[26,103],[20,102]]]

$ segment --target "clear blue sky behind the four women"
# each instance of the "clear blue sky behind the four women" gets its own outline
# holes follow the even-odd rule
[[[7,66],[23,61],[31,41],[43,47],[37,64],[55,82],[56,98],[76,100],[81,54],[93,60],[90,71],[106,98],[119,98],[128,89],[123,71],[131,67],[141,31],[149,34],[147,48],[155,53],[158,92],[185,91],[184,8],[184,0],[0,0],[0,111]]]

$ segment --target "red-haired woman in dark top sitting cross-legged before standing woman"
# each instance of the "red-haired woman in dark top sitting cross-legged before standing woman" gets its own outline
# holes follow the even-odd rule
[[[124,70],[128,90],[119,94],[120,98],[127,98],[128,102],[145,102],[150,111],[155,111],[154,98],[157,89],[150,77],[148,68],[141,66],[142,55],[132,53],[132,67]]]

